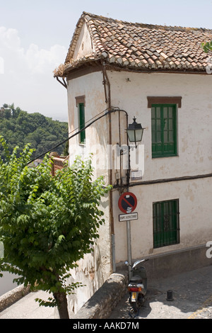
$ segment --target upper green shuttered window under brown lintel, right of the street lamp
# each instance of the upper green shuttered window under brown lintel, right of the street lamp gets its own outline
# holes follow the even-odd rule
[[[177,155],[176,104],[154,104],[151,108],[152,157]]]

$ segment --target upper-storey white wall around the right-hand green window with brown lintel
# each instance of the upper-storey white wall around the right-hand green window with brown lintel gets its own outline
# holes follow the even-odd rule
[[[134,115],[146,128],[144,180],[211,172],[212,76],[109,72],[112,105]],[[129,80],[128,80],[129,79]],[[151,158],[151,108],[147,96],[182,96],[178,109],[179,157]]]

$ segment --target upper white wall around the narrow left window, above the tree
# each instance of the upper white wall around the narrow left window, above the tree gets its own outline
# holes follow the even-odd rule
[[[85,96],[86,123],[91,119],[94,120],[98,115],[104,114],[107,104],[105,103],[105,93],[102,85],[102,73],[95,72],[68,81],[69,133],[71,134],[78,130],[78,108],[75,100],[77,96]],[[86,129],[86,145],[78,145],[78,135],[69,140],[70,163],[73,162],[76,154],[88,155],[90,152],[95,152],[96,149],[101,150],[100,154],[93,156],[93,164],[94,166],[104,166],[103,169],[98,167],[95,176],[103,174],[105,181],[108,181],[108,171],[105,168],[107,161],[103,152],[107,149],[107,133],[108,122],[105,117]]]

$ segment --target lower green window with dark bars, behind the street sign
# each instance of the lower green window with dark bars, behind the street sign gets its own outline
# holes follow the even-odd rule
[[[179,243],[179,201],[153,203],[153,247]]]

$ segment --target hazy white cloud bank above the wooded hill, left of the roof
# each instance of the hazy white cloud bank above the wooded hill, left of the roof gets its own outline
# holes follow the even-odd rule
[[[0,106],[14,103],[28,112],[67,119],[66,89],[53,77],[66,52],[62,45],[24,48],[18,30],[0,27]]]

